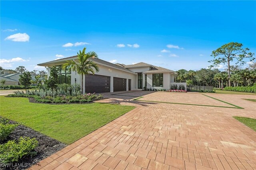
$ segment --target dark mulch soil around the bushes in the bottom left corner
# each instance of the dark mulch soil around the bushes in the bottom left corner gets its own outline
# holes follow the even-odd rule
[[[9,123],[14,124],[16,122],[10,121]],[[40,160],[43,160],[44,158],[54,154],[58,150],[66,147],[66,144],[61,143],[60,141],[57,141],[56,139],[52,139],[51,137],[48,137],[40,132],[37,132],[29,127],[26,127],[24,125],[18,125],[15,130],[2,142],[6,143],[9,140],[17,140],[20,137],[30,137],[30,138],[36,138],[38,141],[38,147],[36,147],[36,155],[30,157],[25,156],[21,158],[18,162],[14,162],[13,165],[16,164],[22,164],[23,167],[3,167],[3,165],[0,163],[0,169],[1,170],[24,170],[29,168],[30,166],[36,164]]]

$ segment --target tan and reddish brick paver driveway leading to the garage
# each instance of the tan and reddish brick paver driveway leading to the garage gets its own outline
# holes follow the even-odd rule
[[[128,100],[142,95],[141,100],[157,102]],[[106,96],[111,98],[101,102],[136,108],[31,169],[256,169],[256,132],[232,118],[256,118],[256,104],[242,99],[256,96],[207,94],[244,109],[216,107],[230,105],[193,93]]]

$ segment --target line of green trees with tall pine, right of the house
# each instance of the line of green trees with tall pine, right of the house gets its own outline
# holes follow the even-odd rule
[[[254,53],[248,48],[242,48],[242,43],[227,43],[220,48],[212,51],[213,60],[209,68],[200,70],[178,70],[175,82],[186,82],[188,85],[214,86],[224,88],[224,86],[252,86],[256,82],[256,63]],[[248,68],[242,69],[250,61]],[[234,63],[231,65],[230,63]],[[226,64],[227,68],[223,71],[214,67]]]

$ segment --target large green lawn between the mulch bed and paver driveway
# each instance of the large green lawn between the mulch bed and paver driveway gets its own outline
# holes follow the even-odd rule
[[[124,113],[132,106],[117,104],[36,104],[28,98],[0,96],[0,115],[66,144],[88,135]]]

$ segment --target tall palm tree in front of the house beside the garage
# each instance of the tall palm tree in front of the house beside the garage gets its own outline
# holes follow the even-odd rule
[[[100,69],[96,63],[93,61],[89,60],[91,57],[92,58],[98,58],[98,55],[94,51],[90,51],[88,53],[85,53],[86,47],[84,47],[83,51],[79,50],[79,53],[77,53],[77,60],[69,60],[66,61],[67,63],[63,64],[62,68],[67,69],[71,68],[72,71],[77,72],[78,74],[81,74],[82,76],[82,93],[84,92],[84,75],[85,74],[90,74],[92,73],[93,75],[96,72],[99,72]]]

